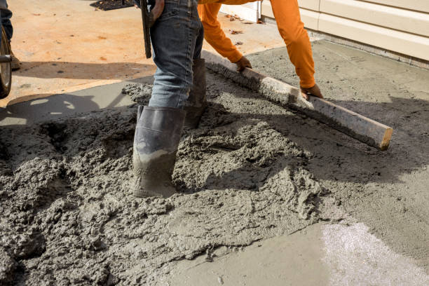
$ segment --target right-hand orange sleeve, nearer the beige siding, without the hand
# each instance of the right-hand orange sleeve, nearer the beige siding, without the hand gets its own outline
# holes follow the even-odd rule
[[[311,43],[301,22],[297,0],[271,0],[278,31],[285,40],[287,53],[299,76],[302,88],[315,85]]]

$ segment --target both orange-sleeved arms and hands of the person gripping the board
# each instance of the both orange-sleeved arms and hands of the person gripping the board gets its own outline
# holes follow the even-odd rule
[[[233,45],[231,40],[222,31],[217,13],[222,4],[241,5],[255,0],[199,0],[198,13],[204,26],[204,38],[219,54],[227,57],[237,64],[237,69],[242,71],[245,67],[252,67],[249,60]],[[286,43],[290,61],[295,66],[295,71],[300,79],[303,96],[307,94],[323,97],[314,79],[314,61],[311,51],[311,43],[308,38],[304,23],[301,22],[297,0],[271,0],[271,6],[278,31]]]

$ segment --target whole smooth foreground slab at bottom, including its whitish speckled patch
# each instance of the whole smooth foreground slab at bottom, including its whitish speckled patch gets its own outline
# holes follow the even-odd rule
[[[205,257],[177,263],[157,285],[343,286],[428,285],[414,261],[392,252],[365,224],[315,224],[290,236],[243,249],[223,247]],[[269,283],[269,284],[267,284]]]

